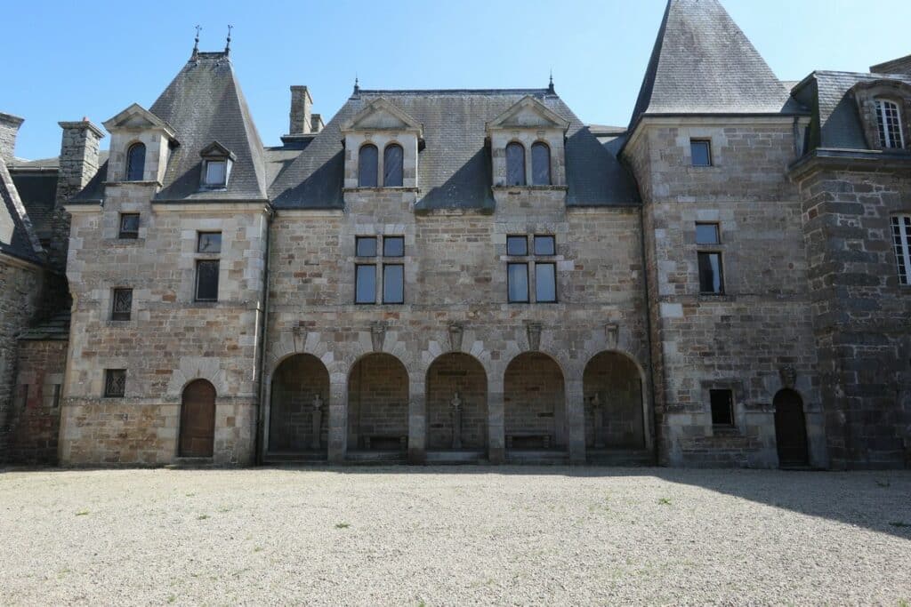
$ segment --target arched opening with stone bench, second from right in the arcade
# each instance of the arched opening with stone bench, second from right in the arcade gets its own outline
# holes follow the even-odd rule
[[[547,354],[525,352],[509,362],[503,425],[507,450],[566,450],[563,371]]]

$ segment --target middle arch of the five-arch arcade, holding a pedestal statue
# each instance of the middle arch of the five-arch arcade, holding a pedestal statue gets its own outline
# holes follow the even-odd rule
[[[427,449],[483,450],[487,375],[472,356],[450,352],[427,369]]]

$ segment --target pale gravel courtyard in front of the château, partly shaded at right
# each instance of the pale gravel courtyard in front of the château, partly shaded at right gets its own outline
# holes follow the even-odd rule
[[[0,603],[911,602],[911,473],[0,473]]]

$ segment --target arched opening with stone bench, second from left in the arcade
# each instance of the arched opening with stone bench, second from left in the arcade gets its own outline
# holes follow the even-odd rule
[[[348,376],[348,449],[407,448],[408,371],[391,354],[368,354]]]

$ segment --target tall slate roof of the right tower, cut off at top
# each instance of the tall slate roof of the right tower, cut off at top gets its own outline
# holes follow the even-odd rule
[[[802,111],[718,0],[670,0],[630,130],[644,115]]]

